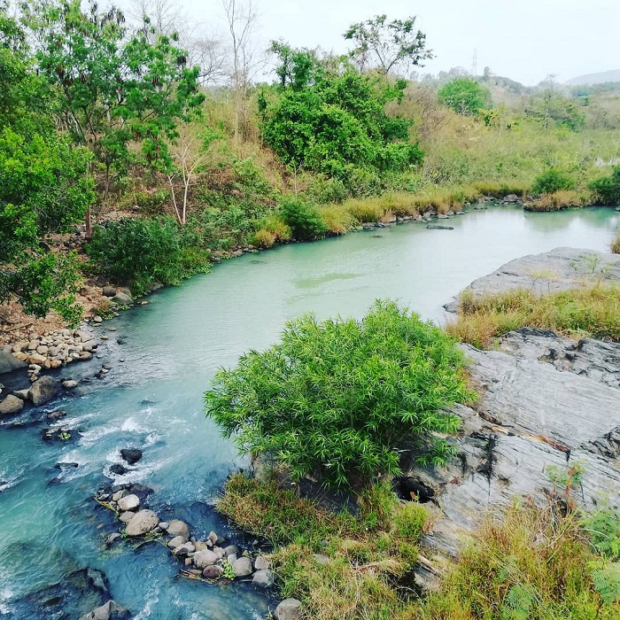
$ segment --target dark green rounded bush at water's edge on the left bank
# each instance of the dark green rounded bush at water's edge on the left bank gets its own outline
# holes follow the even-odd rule
[[[190,229],[182,229],[172,218],[125,218],[97,226],[87,253],[106,277],[143,294],[154,281],[178,284],[208,270],[209,253],[196,241]]]

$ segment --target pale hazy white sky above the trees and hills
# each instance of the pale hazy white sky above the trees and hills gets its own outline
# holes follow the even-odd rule
[[[191,19],[221,21],[219,0],[185,0]],[[547,74],[558,81],[620,69],[620,0],[254,0],[265,43],[283,38],[295,47],[342,52],[346,27],[386,13],[389,19],[417,16],[436,58],[423,73],[453,66],[490,66],[531,85]],[[213,26],[212,26],[213,25]]]

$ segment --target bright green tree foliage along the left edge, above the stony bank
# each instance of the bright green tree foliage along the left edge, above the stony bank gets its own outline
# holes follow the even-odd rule
[[[75,321],[75,261],[51,253],[43,238],[66,232],[94,200],[89,153],[47,119],[26,40],[0,5],[0,302],[17,298],[29,314],[55,309]]]

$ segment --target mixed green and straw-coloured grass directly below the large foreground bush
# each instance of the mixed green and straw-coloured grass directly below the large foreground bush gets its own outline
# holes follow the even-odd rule
[[[359,515],[334,513],[294,488],[236,476],[217,508],[275,545],[270,559],[281,596],[302,601],[305,617],[388,620],[402,608],[400,585],[411,582],[428,513],[400,503],[386,484],[359,503]]]

